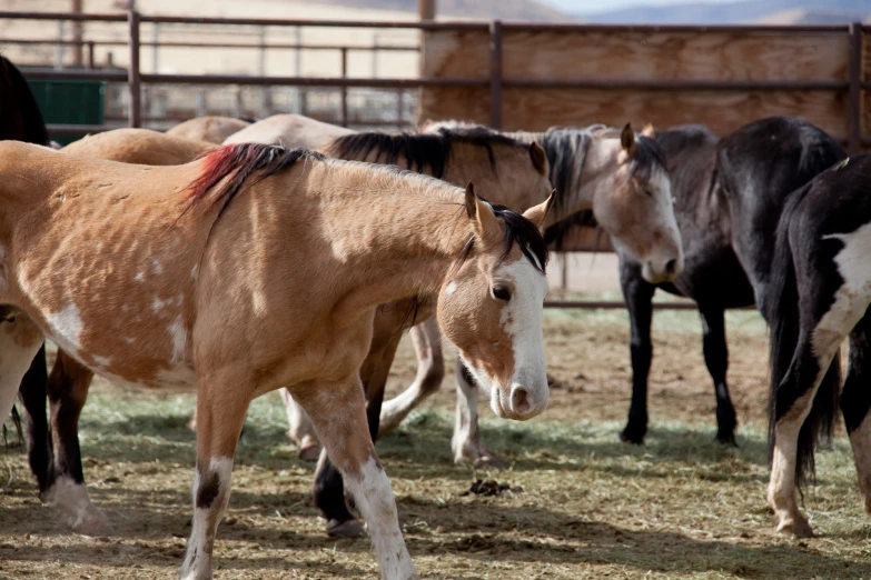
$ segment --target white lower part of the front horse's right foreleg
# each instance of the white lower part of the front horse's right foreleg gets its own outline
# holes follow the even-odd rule
[[[390,481],[374,457],[360,466],[357,476],[343,473],[348,491],[354,494],[369,537],[378,554],[382,578],[386,580],[407,580],[417,578],[408,549],[399,530],[396,500]]]

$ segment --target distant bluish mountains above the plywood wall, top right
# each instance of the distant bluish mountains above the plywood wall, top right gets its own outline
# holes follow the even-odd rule
[[[716,4],[643,6],[577,14],[613,24],[841,23],[871,14],[869,0],[743,0]],[[781,20],[778,21],[776,19]]]

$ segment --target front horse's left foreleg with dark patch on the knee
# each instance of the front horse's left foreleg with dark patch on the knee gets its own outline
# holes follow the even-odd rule
[[[232,369],[197,380],[197,468],[194,476],[194,524],[182,580],[210,580],[218,523],[230,500],[232,458],[248,411],[249,383]]]

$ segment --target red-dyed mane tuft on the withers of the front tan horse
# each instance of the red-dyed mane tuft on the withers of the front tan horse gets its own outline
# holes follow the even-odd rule
[[[207,202],[208,208],[220,202],[220,210],[215,218],[217,220],[244,188],[247,189],[283,169],[293,167],[299,159],[324,161],[326,158],[306,149],[232,143],[206,151],[197,159],[205,159],[205,163],[200,174],[187,188],[188,206],[181,214],[200,202]],[[227,179],[224,184],[215,188],[225,178]]]

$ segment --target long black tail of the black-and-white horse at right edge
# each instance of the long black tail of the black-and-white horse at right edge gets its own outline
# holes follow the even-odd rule
[[[769,397],[769,461],[774,450],[774,426],[776,422],[776,400],[781,383],[795,352],[799,341],[799,291],[795,279],[792,247],[789,239],[789,223],[795,208],[804,199],[811,184],[794,191],[786,201],[778,226],[774,258],[771,266],[771,280],[766,289],[765,312],[763,316],[771,328],[770,368],[771,392]],[[835,354],[825,372],[811,412],[799,431],[795,461],[795,484],[801,490],[814,473],[813,453],[821,439],[831,438],[838,413],[838,398],[841,387],[841,357]]]

